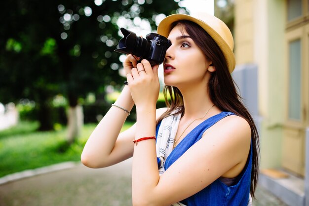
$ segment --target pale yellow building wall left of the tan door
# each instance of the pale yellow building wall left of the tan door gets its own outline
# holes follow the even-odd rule
[[[284,1],[235,0],[236,64],[258,65],[261,169],[281,167]]]

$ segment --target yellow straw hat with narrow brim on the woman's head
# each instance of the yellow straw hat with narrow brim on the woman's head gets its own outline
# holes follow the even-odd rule
[[[235,68],[235,57],[233,53],[234,41],[227,25],[217,17],[207,13],[198,13],[194,17],[187,14],[172,14],[160,22],[157,33],[168,37],[171,24],[179,20],[192,21],[202,27],[221,48],[227,60],[229,71],[232,73]]]

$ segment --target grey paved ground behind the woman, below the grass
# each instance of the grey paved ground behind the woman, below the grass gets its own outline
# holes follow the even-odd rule
[[[259,187],[253,206],[286,206]],[[131,160],[102,169],[83,165],[0,185],[0,206],[132,206]]]

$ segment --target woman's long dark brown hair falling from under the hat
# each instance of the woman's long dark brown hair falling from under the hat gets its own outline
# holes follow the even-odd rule
[[[235,82],[229,72],[227,61],[218,46],[218,44],[209,36],[209,34],[199,25],[181,20],[174,22],[171,28],[180,25],[190,35],[193,41],[202,50],[207,60],[212,61],[216,68],[215,72],[211,73],[208,82],[208,93],[212,102],[222,111],[229,111],[239,117],[244,118],[251,128],[252,139],[252,169],[251,169],[251,186],[250,193],[254,198],[254,192],[258,183],[259,173],[259,156],[260,144],[259,134],[254,124],[253,118],[241,102],[241,97],[237,93]],[[184,114],[185,108],[183,104],[183,96],[180,90],[174,86],[165,85],[163,89],[165,103],[168,110],[159,118],[160,122],[163,118],[170,116],[172,111],[179,109],[177,114]],[[169,95],[169,99],[167,98]]]

